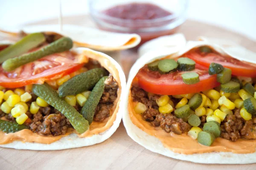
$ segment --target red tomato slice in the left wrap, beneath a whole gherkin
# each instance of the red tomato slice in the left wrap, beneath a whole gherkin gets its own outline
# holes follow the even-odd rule
[[[12,72],[0,67],[0,85],[6,88],[18,88],[24,85],[44,83],[70,74],[83,66],[76,61],[77,54],[70,51],[52,54],[35,62],[23,65]]]

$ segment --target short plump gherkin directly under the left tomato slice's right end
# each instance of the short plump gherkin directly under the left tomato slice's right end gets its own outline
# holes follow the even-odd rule
[[[106,76],[104,68],[94,68],[64,82],[58,89],[59,96],[69,96],[82,93],[93,88],[100,78]]]

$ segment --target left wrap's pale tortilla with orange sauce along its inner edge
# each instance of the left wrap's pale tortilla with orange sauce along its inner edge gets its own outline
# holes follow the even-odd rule
[[[67,135],[56,137],[42,136],[40,134],[33,133],[31,130],[27,129],[18,131],[16,133],[8,134],[0,131],[1,140],[6,139],[6,136],[8,135],[10,135],[9,137],[12,138],[11,143],[0,144],[0,147],[29,150],[62,150],[89,146],[103,142],[116,131],[122,119],[122,111],[124,110],[124,100],[122,99],[125,97],[124,90],[126,81],[122,68],[113,58],[101,52],[93,51],[88,48],[73,48],[72,51],[76,52],[77,54],[83,54],[84,57],[88,57],[89,59],[97,60],[99,64],[102,65],[102,67],[104,67],[106,70],[108,70],[110,74],[112,74],[113,79],[115,79],[119,85],[117,91],[117,98],[113,103],[114,109],[112,110],[112,115],[106,118],[108,119],[107,122],[101,127],[95,127],[94,125],[92,129],[91,126],[93,126],[93,124],[91,124],[90,130],[87,130],[83,134],[78,134],[76,133],[76,131],[72,131],[71,134],[67,133]],[[24,135],[30,135],[31,137],[28,140],[32,142],[27,142],[27,140],[23,138]],[[48,140],[47,138],[51,138],[51,141],[55,142],[52,142],[50,144],[37,143],[38,139],[42,137],[46,141]]]

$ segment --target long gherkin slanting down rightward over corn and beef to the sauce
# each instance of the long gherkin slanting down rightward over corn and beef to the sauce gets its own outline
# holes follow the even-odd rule
[[[44,101],[46,101],[49,105],[64,114],[78,133],[84,133],[89,129],[88,121],[84,119],[84,117],[78,111],[76,111],[73,106],[61,99],[58,96],[58,93],[49,85],[35,84],[33,85],[32,91],[35,95],[41,99],[44,99]]]

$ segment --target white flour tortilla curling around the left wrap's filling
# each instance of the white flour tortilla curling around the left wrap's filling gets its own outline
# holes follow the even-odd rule
[[[125,89],[125,75],[122,71],[120,65],[111,57],[101,52],[93,51],[88,48],[73,48],[72,51],[76,52],[77,54],[84,54],[90,59],[97,60],[105,69],[107,69],[110,74],[113,75],[113,78],[118,82],[119,89],[117,91],[117,98],[116,98],[116,107],[113,111],[112,116],[108,118],[108,122],[104,127],[105,130],[102,133],[92,134],[86,137],[82,137],[83,134],[77,135],[76,133],[71,133],[68,136],[64,136],[56,142],[51,144],[41,144],[35,142],[26,142],[26,141],[13,141],[9,144],[1,144],[0,147],[9,147],[15,149],[29,149],[29,150],[62,150],[62,149],[69,149],[75,147],[83,147],[89,146],[93,144],[97,144],[100,142],[105,141],[108,139],[119,127],[119,124],[122,119],[122,111],[124,110],[124,89]],[[108,127],[108,128],[107,128]],[[101,128],[96,129],[98,131]],[[95,130],[95,129],[94,129]],[[19,131],[22,132],[23,130]],[[30,130],[29,130],[30,131]],[[89,133],[87,130],[85,133]],[[16,132],[16,133],[19,133]],[[9,133],[10,134],[10,133]],[[79,137],[80,136],[80,137]]]

